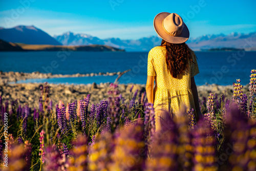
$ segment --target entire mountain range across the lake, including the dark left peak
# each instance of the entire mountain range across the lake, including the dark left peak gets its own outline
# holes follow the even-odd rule
[[[35,26],[16,26],[14,28],[0,28],[0,39],[8,42],[19,42],[30,45],[105,45],[125,51],[150,51],[153,47],[161,44],[159,36],[148,36],[139,39],[120,39],[98,37],[84,34],[66,32],[53,37]],[[256,50],[256,32],[248,34],[231,33],[225,34],[207,34],[196,38],[189,38],[187,45],[194,51],[203,51],[210,49],[245,49]]]

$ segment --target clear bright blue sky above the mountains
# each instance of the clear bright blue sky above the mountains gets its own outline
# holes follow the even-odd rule
[[[160,12],[182,16],[190,37],[256,31],[256,1],[48,1],[0,0],[0,27],[34,25],[50,35],[67,31],[99,38],[137,39],[157,35],[153,20]]]

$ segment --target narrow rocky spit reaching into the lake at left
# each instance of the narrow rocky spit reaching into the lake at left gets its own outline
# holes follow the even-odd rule
[[[18,80],[26,80],[32,78],[63,78],[63,77],[92,77],[92,76],[113,76],[119,75],[121,72],[113,72],[113,73],[88,73],[88,74],[52,74],[52,73],[40,73],[40,72],[32,72],[32,73],[23,73],[23,72],[2,72],[0,71],[0,83],[7,82],[16,82]]]

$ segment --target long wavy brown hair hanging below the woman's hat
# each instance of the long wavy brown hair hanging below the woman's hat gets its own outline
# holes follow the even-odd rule
[[[165,43],[165,45],[163,45]],[[192,61],[191,51],[183,42],[182,44],[171,44],[162,40],[161,46],[166,47],[166,65],[170,74],[174,78],[178,78],[188,65],[188,61]]]

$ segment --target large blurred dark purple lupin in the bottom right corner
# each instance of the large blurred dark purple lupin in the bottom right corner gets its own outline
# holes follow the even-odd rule
[[[224,163],[226,168],[230,168],[230,170],[255,170],[255,120],[245,118],[237,106],[232,105],[227,114],[226,122],[226,143],[224,146],[224,149],[228,151],[228,162]]]

